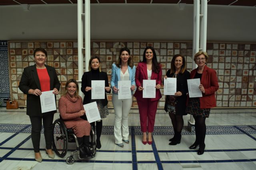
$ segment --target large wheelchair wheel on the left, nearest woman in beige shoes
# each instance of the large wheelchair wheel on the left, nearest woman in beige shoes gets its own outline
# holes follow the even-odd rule
[[[52,147],[54,152],[63,158],[68,151],[68,133],[64,127],[63,121],[56,119],[53,123]]]

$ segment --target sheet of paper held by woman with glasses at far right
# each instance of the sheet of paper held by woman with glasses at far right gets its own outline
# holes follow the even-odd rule
[[[202,97],[202,92],[199,89],[200,78],[188,79],[188,94],[190,98]]]

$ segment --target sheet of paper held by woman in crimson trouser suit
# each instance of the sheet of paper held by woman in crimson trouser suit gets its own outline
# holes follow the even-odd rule
[[[156,80],[143,80],[143,98],[156,98]]]

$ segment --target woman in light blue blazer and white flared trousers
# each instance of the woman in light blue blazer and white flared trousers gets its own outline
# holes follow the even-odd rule
[[[124,143],[129,143],[128,114],[132,106],[132,93],[136,89],[135,71],[136,68],[132,63],[130,50],[127,47],[120,49],[118,61],[112,64],[111,75],[112,103],[115,111],[114,135],[115,143],[119,147],[124,147]],[[123,80],[131,81],[130,99],[118,99],[118,81]]]

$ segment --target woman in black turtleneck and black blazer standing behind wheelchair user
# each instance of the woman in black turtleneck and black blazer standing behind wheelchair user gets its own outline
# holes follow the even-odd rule
[[[91,102],[96,102],[100,111],[100,121],[96,121],[96,146],[98,149],[101,148],[100,136],[102,132],[102,119],[106,118],[108,115],[108,99],[106,93],[110,93],[110,87],[108,84],[108,75],[106,72],[102,72],[100,70],[100,58],[97,56],[91,57],[89,61],[89,70],[88,72],[84,72],[82,76],[82,86],[81,91],[84,93],[84,102],[83,104],[88,104]],[[105,99],[96,99],[92,100],[92,80],[105,80]],[[82,117],[86,119],[86,116]],[[95,129],[95,122],[91,123],[91,126]]]

